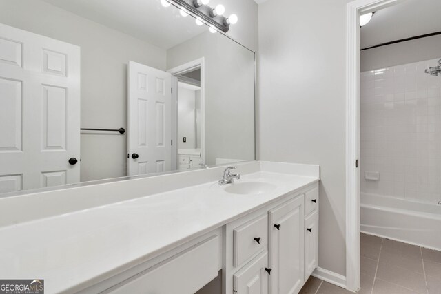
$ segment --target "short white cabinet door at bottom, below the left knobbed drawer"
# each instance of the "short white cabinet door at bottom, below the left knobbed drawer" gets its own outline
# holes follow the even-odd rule
[[[267,264],[268,253],[265,251],[238,271],[233,277],[234,293],[267,294],[269,275]]]

